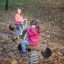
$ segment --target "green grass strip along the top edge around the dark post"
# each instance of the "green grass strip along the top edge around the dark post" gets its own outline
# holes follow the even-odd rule
[[[27,5],[34,6],[37,4],[38,0],[8,0],[9,2],[9,9],[17,9],[17,8],[22,8]],[[5,7],[6,0],[0,0],[0,7],[4,8]]]

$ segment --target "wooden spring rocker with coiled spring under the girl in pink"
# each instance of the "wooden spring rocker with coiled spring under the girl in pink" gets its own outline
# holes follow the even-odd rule
[[[19,52],[22,52],[21,44],[18,45],[18,50]],[[40,55],[43,56],[43,59],[48,59],[52,53],[51,49],[45,44],[40,44],[39,46],[27,46],[27,52],[30,53],[28,54],[30,64],[38,64]]]

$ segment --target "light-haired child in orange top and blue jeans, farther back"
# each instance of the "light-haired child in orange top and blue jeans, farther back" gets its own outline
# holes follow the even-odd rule
[[[16,24],[16,27],[19,30],[19,35],[22,35],[23,23],[24,23],[25,20],[26,19],[23,19],[21,9],[17,9],[17,13],[15,15],[15,24]]]

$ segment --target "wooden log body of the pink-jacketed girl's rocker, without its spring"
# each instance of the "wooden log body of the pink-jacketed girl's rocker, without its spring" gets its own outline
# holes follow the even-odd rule
[[[21,45],[19,44],[18,45],[18,50],[21,52],[22,51],[22,48],[21,48]],[[43,47],[40,47],[40,46],[27,46],[27,50],[28,51],[31,51],[31,50],[37,50],[37,51],[40,51],[42,56],[47,59],[51,56],[51,49],[49,47],[47,48],[43,48]]]

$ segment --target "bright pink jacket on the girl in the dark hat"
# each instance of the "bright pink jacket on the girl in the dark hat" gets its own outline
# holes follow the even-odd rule
[[[31,45],[36,46],[40,43],[40,32],[37,28],[29,28],[27,30],[28,41]]]

